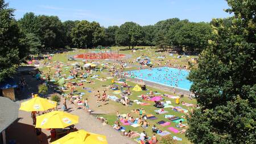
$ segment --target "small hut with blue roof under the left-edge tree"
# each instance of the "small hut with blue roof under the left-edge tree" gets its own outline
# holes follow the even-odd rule
[[[2,95],[11,100],[15,100],[15,88],[18,84],[13,78],[6,79],[0,83],[0,89],[2,90]]]

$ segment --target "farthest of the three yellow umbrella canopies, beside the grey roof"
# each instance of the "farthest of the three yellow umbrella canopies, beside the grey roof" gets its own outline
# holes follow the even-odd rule
[[[19,109],[27,112],[32,112],[47,111],[48,109],[55,107],[57,107],[56,101],[36,97],[21,103]]]

